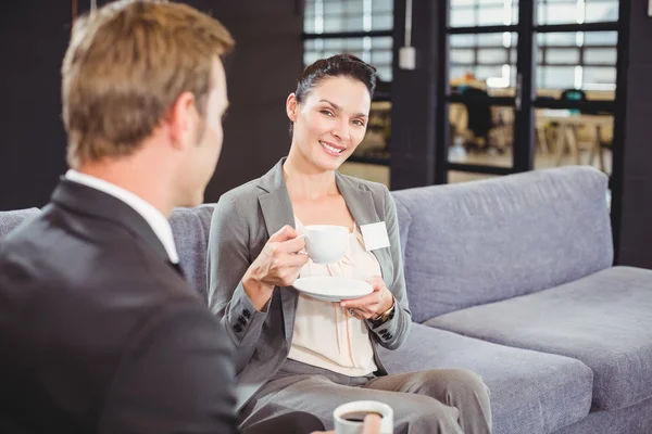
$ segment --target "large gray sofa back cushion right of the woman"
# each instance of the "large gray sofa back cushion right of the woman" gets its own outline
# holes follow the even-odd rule
[[[611,266],[607,177],[563,167],[394,191],[413,320]]]

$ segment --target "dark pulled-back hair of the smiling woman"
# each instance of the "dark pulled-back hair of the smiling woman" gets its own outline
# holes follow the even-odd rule
[[[351,54],[336,54],[321,59],[305,68],[297,81],[294,95],[301,104],[311,90],[327,77],[348,77],[362,82],[374,97],[376,90],[376,68]],[[290,132],[292,123],[290,122]]]

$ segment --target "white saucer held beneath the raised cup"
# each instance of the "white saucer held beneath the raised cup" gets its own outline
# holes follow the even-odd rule
[[[372,285],[364,280],[338,277],[297,279],[292,286],[324,302],[360,298],[374,292]]]

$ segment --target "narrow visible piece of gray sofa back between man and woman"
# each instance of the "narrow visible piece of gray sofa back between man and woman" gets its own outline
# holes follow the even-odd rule
[[[204,303],[209,303],[206,251],[214,204],[195,208],[175,208],[170,217],[179,265]]]

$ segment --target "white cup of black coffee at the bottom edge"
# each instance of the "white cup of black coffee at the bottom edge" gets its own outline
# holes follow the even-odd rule
[[[368,413],[380,416],[380,434],[393,433],[393,410],[377,400],[355,400],[342,404],[333,412],[336,434],[361,434],[364,417]]]

